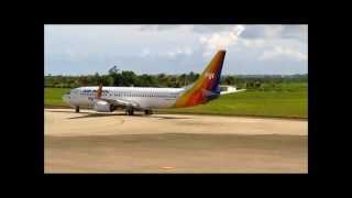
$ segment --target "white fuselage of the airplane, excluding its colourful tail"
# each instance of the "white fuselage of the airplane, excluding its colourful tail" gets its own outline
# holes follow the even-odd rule
[[[98,87],[79,87],[64,95],[72,107],[94,107]],[[141,108],[169,108],[175,105],[184,88],[103,87],[101,98],[136,102]]]

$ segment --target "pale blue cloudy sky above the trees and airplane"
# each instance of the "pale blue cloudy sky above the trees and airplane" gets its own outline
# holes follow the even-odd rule
[[[308,73],[308,25],[45,25],[44,74],[201,73],[226,50],[224,75]]]

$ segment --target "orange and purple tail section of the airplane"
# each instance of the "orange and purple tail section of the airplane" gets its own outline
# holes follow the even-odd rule
[[[220,95],[220,76],[226,51],[219,51],[197,81],[178,97],[175,108],[191,107],[206,103]]]

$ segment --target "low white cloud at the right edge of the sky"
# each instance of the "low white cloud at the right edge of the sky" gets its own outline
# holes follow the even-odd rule
[[[280,56],[293,57],[298,61],[307,61],[308,55],[294,48],[276,46],[271,51],[265,51],[260,59],[272,59]]]

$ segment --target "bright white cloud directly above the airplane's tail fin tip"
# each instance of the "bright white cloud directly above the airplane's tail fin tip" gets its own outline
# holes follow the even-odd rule
[[[210,55],[218,50],[227,50],[230,45],[237,43],[243,31],[243,25],[234,25],[230,31],[200,36],[200,43],[206,45],[206,52],[204,55]]]

